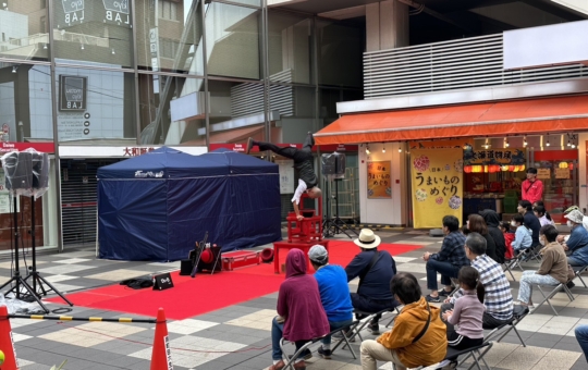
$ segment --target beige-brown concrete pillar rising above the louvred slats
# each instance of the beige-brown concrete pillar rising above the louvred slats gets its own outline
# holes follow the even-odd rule
[[[408,5],[388,0],[366,5],[367,51],[408,46]]]

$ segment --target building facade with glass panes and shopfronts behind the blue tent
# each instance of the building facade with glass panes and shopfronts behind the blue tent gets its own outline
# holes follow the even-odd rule
[[[518,148],[526,166],[551,169],[551,208],[586,205],[588,136],[581,109],[575,113],[578,125],[546,133],[532,128],[536,120],[525,130],[442,135],[436,131],[439,116],[425,110],[473,104],[482,110],[482,103],[587,94],[581,55],[516,64],[525,59],[509,47],[516,39],[509,35],[581,23],[587,13],[583,2],[573,0],[4,0],[2,147],[51,153],[51,186],[37,200],[35,218],[36,245],[42,247],[96,243],[96,171],[101,165],[160,146],[192,153],[243,150],[249,136],[295,145],[308,131],[319,132],[319,144],[335,145],[318,147],[318,157],[338,145],[359,146],[335,188],[342,192],[343,215],[364,223],[414,224],[411,151],[442,148],[440,139],[463,139],[462,149],[478,157],[486,147]],[[397,112],[414,115],[403,121]],[[375,113],[391,115],[380,120]],[[559,118],[564,113],[556,112]],[[509,116],[509,122],[519,119]],[[443,124],[485,124],[468,120]],[[406,134],[406,127],[419,125],[433,134]],[[366,135],[341,135],[345,132]],[[464,150],[466,161],[467,156]],[[265,159],[287,169],[283,159]],[[568,177],[555,177],[564,162]],[[464,174],[460,188],[471,209],[491,202],[478,198],[502,199],[505,184],[524,173],[483,169]],[[371,177],[384,180],[375,186]],[[321,182],[332,188],[326,176]],[[291,192],[292,184],[284,184],[284,211]],[[8,192],[0,189],[0,249],[9,249]],[[26,201],[19,200],[20,209]],[[504,202],[494,203],[501,207]]]

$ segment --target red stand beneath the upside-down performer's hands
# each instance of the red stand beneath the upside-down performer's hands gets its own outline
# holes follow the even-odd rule
[[[273,272],[280,273],[280,249],[297,248],[304,252],[308,263],[308,271],[311,270],[308,250],[314,245],[321,245],[329,250],[329,242],[322,239],[322,198],[318,198],[318,209],[304,208],[304,199],[307,194],[301,197],[299,211],[304,220],[298,221],[295,212],[290,212],[286,217],[287,240],[273,243]]]

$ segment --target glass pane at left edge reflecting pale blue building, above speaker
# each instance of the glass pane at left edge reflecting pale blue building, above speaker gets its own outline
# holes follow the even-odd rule
[[[53,139],[48,65],[0,63],[0,139]]]

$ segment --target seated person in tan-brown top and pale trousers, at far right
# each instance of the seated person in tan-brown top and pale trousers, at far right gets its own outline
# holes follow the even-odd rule
[[[539,231],[539,242],[544,245],[540,254],[543,256],[537,271],[524,271],[518,288],[518,301],[522,306],[532,308],[532,285],[558,285],[567,283],[567,259],[560,243],[556,242],[558,229],[544,225]]]

